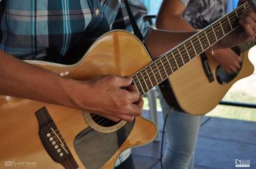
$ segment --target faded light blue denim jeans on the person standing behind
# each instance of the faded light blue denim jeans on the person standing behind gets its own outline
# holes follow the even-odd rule
[[[171,108],[158,90],[163,119]],[[168,145],[163,156],[163,169],[192,169],[201,115],[188,115],[173,109],[166,120]]]

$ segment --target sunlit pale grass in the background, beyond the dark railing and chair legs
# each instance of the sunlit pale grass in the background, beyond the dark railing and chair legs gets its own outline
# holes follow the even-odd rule
[[[147,97],[143,97],[143,99],[143,108],[145,110],[149,110],[149,103]],[[225,95],[225,97],[223,98],[223,100],[256,104],[256,97],[250,97],[241,92],[228,92],[227,95]],[[162,111],[159,99],[157,99],[157,111]],[[217,105],[214,108],[214,110],[208,112],[206,116],[256,122],[256,109],[246,107],[234,107],[227,105]]]

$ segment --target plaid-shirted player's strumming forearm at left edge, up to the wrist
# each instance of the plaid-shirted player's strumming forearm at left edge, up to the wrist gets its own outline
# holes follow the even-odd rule
[[[0,52],[0,95],[71,105],[68,79]]]

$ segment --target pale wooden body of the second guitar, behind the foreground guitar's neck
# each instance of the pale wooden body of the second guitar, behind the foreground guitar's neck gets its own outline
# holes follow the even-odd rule
[[[216,71],[219,64],[212,57],[207,56],[211,72],[214,75],[213,82],[209,82],[206,77],[201,57],[193,58],[185,67],[181,67],[177,72],[171,74],[163,84],[159,85],[163,97],[169,105],[188,114],[206,114],[221,102],[232,84],[252,74],[254,67],[247,54],[248,51],[240,54],[242,68],[237,76],[226,84],[218,82]]]

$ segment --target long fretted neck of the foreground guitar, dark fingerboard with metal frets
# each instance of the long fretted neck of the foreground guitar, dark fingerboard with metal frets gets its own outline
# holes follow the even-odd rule
[[[134,85],[137,87],[140,95],[145,95],[157,84],[160,84],[160,82],[163,82],[171,74],[190,62],[191,59],[203,53],[236,29],[239,26],[239,14],[249,7],[250,4],[245,2],[234,11],[222,16],[205,29],[194,34],[185,42],[161,55],[154,62],[140,70],[140,72],[132,75]]]

